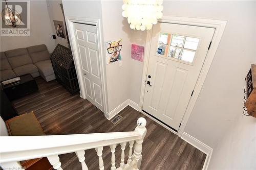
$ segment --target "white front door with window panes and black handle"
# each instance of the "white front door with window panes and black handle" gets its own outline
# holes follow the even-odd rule
[[[157,23],[152,30],[143,110],[178,131],[214,28]]]

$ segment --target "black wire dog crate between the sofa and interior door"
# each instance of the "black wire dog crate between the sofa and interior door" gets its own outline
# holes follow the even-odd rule
[[[77,93],[79,85],[71,50],[57,44],[50,58],[57,81],[72,95]]]

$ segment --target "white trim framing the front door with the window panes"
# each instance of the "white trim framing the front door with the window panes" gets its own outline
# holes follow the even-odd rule
[[[200,90],[203,86],[203,83],[207,76],[208,70],[210,68],[211,62],[214,59],[215,53],[217,51],[222,34],[226,27],[227,21],[201,19],[201,18],[164,16],[162,19],[159,19],[159,22],[176,23],[176,24],[201,26],[201,27],[210,27],[210,28],[216,29],[215,33],[214,33],[214,37],[212,38],[212,43],[211,43],[210,49],[208,50],[202,70],[198,77],[198,81],[196,83],[193,96],[191,97],[191,99],[188,103],[187,109],[185,111],[185,114],[184,114],[182,122],[181,122],[181,127],[179,128],[178,133],[177,133],[177,135],[179,137],[181,137],[183,134],[183,131],[186,127],[186,124],[188,122],[189,116],[195,106],[198,95],[200,93]],[[144,55],[145,57],[144,57],[141,90],[140,90],[140,103],[139,103],[139,111],[140,112],[142,112],[142,106],[143,106],[143,100],[144,100],[144,90],[145,90],[145,85],[146,85],[145,81],[146,81],[146,74],[147,74],[147,68],[148,68],[148,60],[149,60],[149,56],[150,56],[151,35],[152,35],[152,29],[147,31],[147,35],[146,35],[145,55]]]

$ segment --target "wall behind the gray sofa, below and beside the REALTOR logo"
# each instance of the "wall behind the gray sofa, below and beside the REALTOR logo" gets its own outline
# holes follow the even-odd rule
[[[51,53],[55,47],[46,1],[30,1],[30,36],[1,36],[1,51],[46,44]]]

